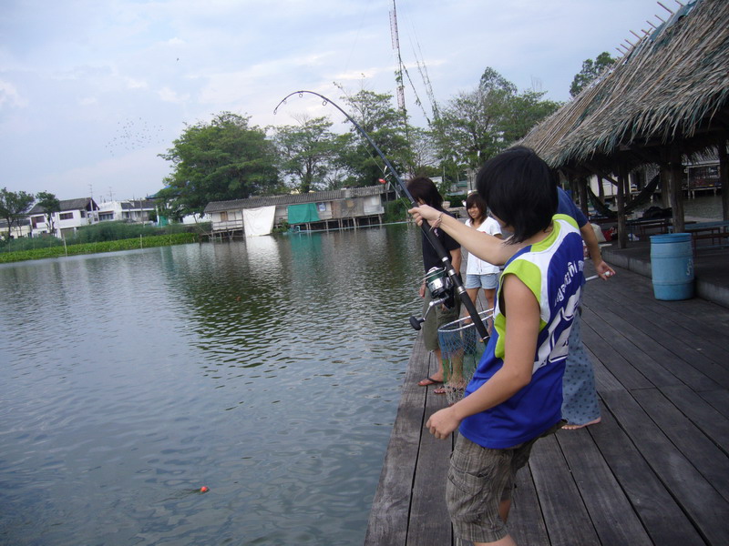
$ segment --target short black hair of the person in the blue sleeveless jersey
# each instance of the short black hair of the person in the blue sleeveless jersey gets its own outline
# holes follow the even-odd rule
[[[512,147],[491,157],[478,171],[478,193],[491,212],[514,231],[520,243],[549,227],[557,212],[557,181],[534,150]]]

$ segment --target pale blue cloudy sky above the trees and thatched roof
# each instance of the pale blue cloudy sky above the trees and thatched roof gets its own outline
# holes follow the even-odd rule
[[[674,9],[675,0],[662,0]],[[363,87],[395,96],[392,0],[4,0],[0,187],[59,199],[140,198],[172,172],[159,157],[221,112],[253,126],[330,116]],[[494,68],[519,92],[566,101],[582,61],[637,40],[655,0],[397,0],[408,112],[439,105]],[[340,104],[341,106],[341,104]],[[394,100],[394,106],[396,106]]]

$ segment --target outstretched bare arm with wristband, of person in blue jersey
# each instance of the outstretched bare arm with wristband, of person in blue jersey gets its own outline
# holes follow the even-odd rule
[[[439,229],[443,229],[449,236],[455,238],[468,252],[490,264],[502,266],[507,263],[508,258],[522,248],[523,245],[508,245],[500,238],[477,231],[467,227],[457,218],[442,214],[439,210],[427,205],[411,208],[408,212],[413,215],[418,226],[427,220],[432,224],[440,217]]]

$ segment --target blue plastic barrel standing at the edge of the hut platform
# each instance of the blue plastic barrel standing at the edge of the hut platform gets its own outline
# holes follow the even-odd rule
[[[651,236],[651,269],[656,299],[693,298],[691,234]]]

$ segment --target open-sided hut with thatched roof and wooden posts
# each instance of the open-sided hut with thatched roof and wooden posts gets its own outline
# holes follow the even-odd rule
[[[617,186],[620,247],[631,169],[655,164],[670,192],[673,228],[683,231],[683,159],[711,150],[720,160],[724,220],[729,220],[729,2],[683,5],[521,142],[577,183]],[[617,174],[617,176],[614,176]]]

